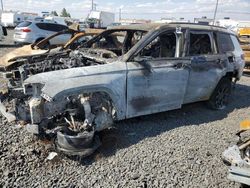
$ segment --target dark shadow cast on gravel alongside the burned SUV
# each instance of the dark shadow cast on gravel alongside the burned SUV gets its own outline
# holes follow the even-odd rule
[[[104,142],[104,147],[101,146],[96,155],[108,157],[114,155],[119,149],[127,148],[146,138],[156,137],[178,127],[204,126],[206,123],[222,120],[236,109],[249,107],[249,96],[250,86],[237,84],[232,91],[231,102],[224,110],[211,110],[205,102],[198,102],[184,105],[182,109],[118,122],[116,136],[112,134],[111,140],[108,143]]]

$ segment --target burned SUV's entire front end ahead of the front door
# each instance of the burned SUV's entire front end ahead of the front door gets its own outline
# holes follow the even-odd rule
[[[145,33],[105,31],[75,51],[22,63],[17,79],[6,77],[8,88],[13,85],[9,93],[20,88],[22,94],[13,97],[16,119],[27,124],[28,132],[56,137],[59,151],[91,154],[100,145],[98,134],[125,117],[127,66],[122,58]]]

